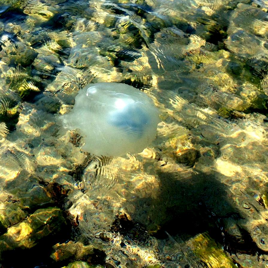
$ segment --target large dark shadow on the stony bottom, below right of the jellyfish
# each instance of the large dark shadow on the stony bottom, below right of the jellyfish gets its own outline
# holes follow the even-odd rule
[[[259,250],[242,228],[238,227],[240,241],[228,233],[228,222],[244,220],[245,215],[241,214],[241,204],[237,205],[235,195],[220,181],[222,174],[198,171],[184,176],[160,171],[157,175],[160,181],[157,197],[131,202],[135,207],[131,214],[133,221],[144,226],[149,234],[160,240],[179,238],[185,243],[198,234],[208,233],[226,251],[255,254]],[[129,205],[127,201],[125,206]]]

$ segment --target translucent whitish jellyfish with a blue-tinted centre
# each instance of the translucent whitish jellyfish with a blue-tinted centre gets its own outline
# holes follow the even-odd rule
[[[97,83],[79,91],[72,111],[62,119],[65,129],[80,129],[84,151],[120,156],[142,152],[152,142],[159,113],[152,99],[137,88]]]

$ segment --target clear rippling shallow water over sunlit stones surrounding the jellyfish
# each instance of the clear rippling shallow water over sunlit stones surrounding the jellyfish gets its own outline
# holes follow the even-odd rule
[[[48,252],[71,238],[106,267],[267,267],[267,9],[1,1],[0,240],[16,240],[1,253],[40,246],[35,233],[49,241],[23,226],[56,206],[73,227]],[[161,109],[143,153],[96,157],[79,131],[58,133],[57,116],[96,82],[130,84]],[[67,264],[49,254],[32,266]]]

